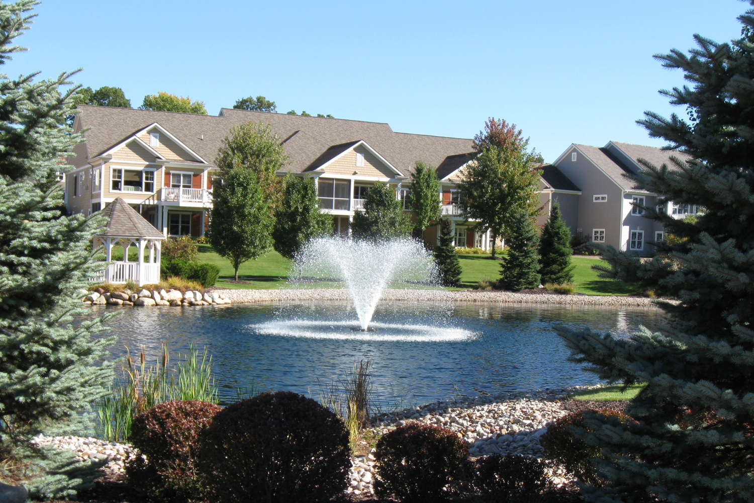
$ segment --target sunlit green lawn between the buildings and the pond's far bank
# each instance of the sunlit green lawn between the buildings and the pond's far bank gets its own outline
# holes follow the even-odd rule
[[[280,256],[280,253],[270,251],[267,255],[256,260],[250,260],[241,264],[238,269],[238,279],[243,283],[230,283],[233,280],[233,268],[227,259],[223,259],[215,253],[209,244],[199,244],[199,260],[215,264],[220,268],[220,277],[216,287],[240,288],[240,289],[263,289],[280,288],[288,280],[290,260]],[[479,281],[495,281],[500,275],[500,262],[491,260],[487,255],[460,255],[461,288],[468,290],[477,287]],[[605,280],[597,277],[596,271],[591,265],[597,263],[596,258],[586,256],[573,257],[574,286],[578,293],[589,295],[629,295],[638,293],[636,287],[624,284],[621,281]]]

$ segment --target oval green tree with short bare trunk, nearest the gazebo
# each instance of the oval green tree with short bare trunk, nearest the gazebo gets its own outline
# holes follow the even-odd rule
[[[210,244],[233,265],[238,281],[242,263],[256,259],[272,247],[274,219],[256,173],[231,170],[216,179],[210,221]]]

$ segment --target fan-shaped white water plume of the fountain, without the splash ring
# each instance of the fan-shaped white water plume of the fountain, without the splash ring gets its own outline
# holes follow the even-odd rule
[[[299,278],[342,281],[359,317],[361,330],[369,328],[372,314],[391,282],[431,284],[434,260],[420,241],[393,239],[366,241],[317,238],[296,257]]]

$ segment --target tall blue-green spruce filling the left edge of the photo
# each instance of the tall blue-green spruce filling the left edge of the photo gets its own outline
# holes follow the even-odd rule
[[[23,51],[12,44],[29,29],[35,4],[0,3],[0,64]],[[0,481],[20,480],[35,498],[75,495],[95,475],[72,452],[29,440],[87,431],[81,413],[112,382],[112,367],[99,364],[112,340],[94,337],[103,318],[73,324],[80,289],[103,269],[90,244],[104,222],[61,216],[62,189],[44,183],[69,168],[60,160],[81,141],[65,125],[77,88],[60,86],[71,76],[0,75]]]

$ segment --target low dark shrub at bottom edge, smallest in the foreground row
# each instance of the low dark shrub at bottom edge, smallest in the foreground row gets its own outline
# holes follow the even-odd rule
[[[551,489],[544,462],[522,455],[489,455],[473,468],[474,489],[482,501],[529,503]]]

